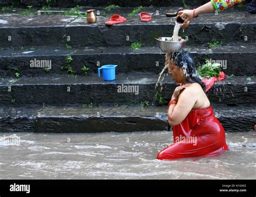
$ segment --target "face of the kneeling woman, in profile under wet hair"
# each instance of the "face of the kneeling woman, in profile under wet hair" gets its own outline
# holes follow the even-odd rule
[[[185,79],[185,75],[183,74],[183,68],[179,68],[178,66],[174,65],[172,60],[167,60],[168,64],[168,73],[172,75],[172,79],[176,83],[183,83]]]

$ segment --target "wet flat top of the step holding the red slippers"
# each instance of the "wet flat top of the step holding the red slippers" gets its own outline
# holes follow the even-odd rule
[[[149,9],[152,14],[152,21],[147,23],[140,22],[139,13],[137,13],[133,17],[125,16],[120,13],[120,15],[124,16],[127,20],[125,23],[116,24],[114,26],[123,26],[123,25],[161,25],[161,24],[169,24],[174,25],[175,17],[166,17],[165,12],[167,8],[158,9],[159,15],[156,15],[156,9]],[[173,8],[171,8],[173,10]],[[232,10],[232,9],[231,9]],[[127,13],[126,13],[127,15]],[[234,17],[234,15],[239,15],[239,17]],[[17,13],[9,13],[5,15],[1,15],[1,19],[6,22],[0,22],[0,27],[24,27],[24,26],[105,26],[104,22],[109,20],[111,15],[109,16],[97,16],[97,22],[94,24],[88,24],[86,21],[86,17],[78,18],[77,16],[65,16],[65,15],[19,15]],[[239,23],[239,24],[255,24],[255,17],[248,12],[239,12],[237,10],[233,10],[233,12],[219,12],[218,16],[215,16],[214,13],[207,13],[203,17],[197,17],[192,20],[192,24],[212,24],[215,23],[216,27],[223,29],[226,24],[230,23]],[[106,26],[107,27],[107,26]]]

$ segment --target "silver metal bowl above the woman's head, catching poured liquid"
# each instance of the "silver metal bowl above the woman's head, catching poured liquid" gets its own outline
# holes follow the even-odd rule
[[[178,51],[181,47],[185,46],[186,40],[181,39],[180,41],[174,42],[171,37],[159,37],[156,38],[159,47],[165,53],[171,53]]]

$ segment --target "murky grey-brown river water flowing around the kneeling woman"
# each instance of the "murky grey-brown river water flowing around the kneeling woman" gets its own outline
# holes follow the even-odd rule
[[[2,133],[2,136],[10,133]],[[229,151],[157,160],[172,132],[16,133],[0,142],[1,179],[256,179],[256,132],[226,133]]]

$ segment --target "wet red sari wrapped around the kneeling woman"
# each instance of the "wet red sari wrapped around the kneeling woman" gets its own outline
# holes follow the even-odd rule
[[[183,122],[173,126],[173,139],[174,144],[160,151],[157,159],[215,156],[228,150],[225,130],[211,106],[192,109]]]

